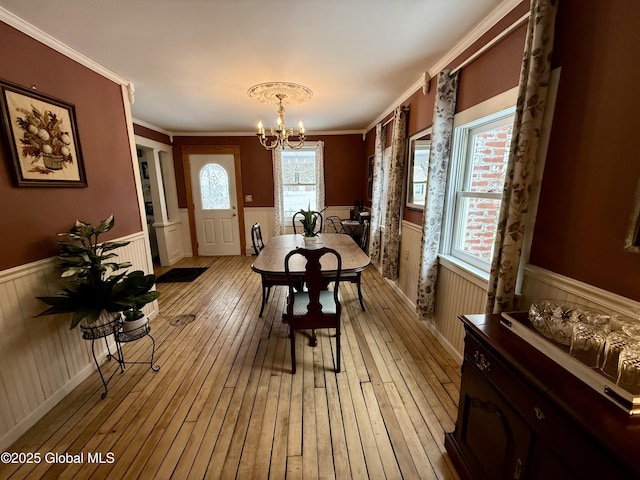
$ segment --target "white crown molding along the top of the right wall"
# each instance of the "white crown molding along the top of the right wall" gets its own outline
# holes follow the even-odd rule
[[[520,3],[522,3],[522,0],[504,0],[504,2],[498,5],[489,15],[487,15],[487,17],[484,18],[484,20],[476,25],[473,30],[465,35],[462,40],[460,40],[451,50],[449,50],[449,52],[447,52],[444,57],[438,60],[433,66],[431,66],[431,68],[429,68],[426,73],[432,78],[437,76],[438,72],[449,65],[467,48],[473,45],[474,42],[482,37],[482,35],[487,33],[494,25],[502,20],[505,15],[507,15]],[[411,95],[422,89],[423,85],[424,73],[420,74],[420,78],[418,78],[409,88],[407,88],[402,93],[402,95],[400,95],[396,99],[396,101],[393,102],[391,106],[389,106],[382,114],[378,115],[378,117],[367,126],[366,130],[361,132],[362,135],[366,135],[369,130],[376,126],[376,124],[380,123],[385,117],[392,113],[398,105],[401,105],[405,100],[411,97]]]

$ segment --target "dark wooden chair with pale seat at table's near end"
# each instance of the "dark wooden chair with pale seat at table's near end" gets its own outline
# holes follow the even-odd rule
[[[294,255],[301,255],[306,259],[304,272],[305,291],[296,291],[299,282],[291,275],[290,260]],[[320,259],[324,255],[335,256],[337,269],[332,276],[333,291],[325,288]],[[291,373],[296,373],[296,330],[311,330],[311,345],[315,345],[315,330],[319,328],[333,328],[336,331],[336,360],[335,371],[340,372],[340,313],[342,306],[338,298],[340,274],[342,272],[342,257],[332,248],[317,248],[308,250],[298,248],[287,254],[284,260],[285,274],[289,283],[287,296],[287,321],[289,322],[289,339],[291,342]]]

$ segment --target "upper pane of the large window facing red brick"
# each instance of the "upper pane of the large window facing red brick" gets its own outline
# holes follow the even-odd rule
[[[508,124],[471,131],[468,191],[502,191],[512,129]]]

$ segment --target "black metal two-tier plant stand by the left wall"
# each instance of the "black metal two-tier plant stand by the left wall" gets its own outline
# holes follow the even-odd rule
[[[149,334],[149,331],[151,330],[151,326],[147,323],[146,325],[143,325],[140,328],[136,328],[134,330],[125,332],[122,329],[122,323],[123,323],[122,318],[119,316],[116,316],[113,318],[113,320],[101,325],[90,326],[90,327],[81,326],[82,338],[84,338],[85,340],[91,340],[91,354],[93,355],[93,361],[96,364],[98,374],[100,375],[100,380],[102,381],[102,385],[104,386],[104,392],[100,396],[100,398],[102,399],[105,399],[107,396],[107,392],[108,392],[107,385],[109,384],[113,376],[116,374],[118,370],[120,370],[121,373],[124,372],[124,368],[126,364],[134,364],[134,363],[147,364],[148,363],[149,367],[154,372],[157,372],[158,370],[160,370],[159,365],[153,364],[153,359],[156,351],[156,342],[151,336],[151,334]],[[116,341],[115,355],[111,353],[109,342],[107,341],[107,337],[109,335],[113,335]],[[127,342],[134,342],[145,336],[151,339],[151,344],[152,344],[151,360],[149,362],[125,361],[124,354],[122,352],[122,344]],[[96,357],[95,342],[96,340],[99,340],[101,338],[104,338],[104,344],[107,347],[107,360],[111,360],[111,358],[115,358],[116,361],[118,362],[118,368],[114,369],[108,378],[105,378],[105,375],[102,373],[102,369],[100,368],[100,363],[98,362],[98,357]]]

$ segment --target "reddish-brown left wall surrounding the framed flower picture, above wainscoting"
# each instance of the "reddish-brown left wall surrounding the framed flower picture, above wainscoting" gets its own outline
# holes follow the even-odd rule
[[[0,22],[0,78],[75,105],[87,188],[16,187],[0,138],[0,270],[56,253],[55,233],[114,214],[105,240],[141,230],[119,85]]]

